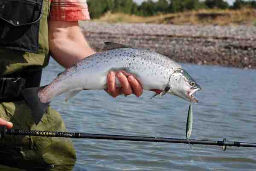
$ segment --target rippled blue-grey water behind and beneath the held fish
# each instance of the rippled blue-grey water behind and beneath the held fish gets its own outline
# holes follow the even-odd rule
[[[180,64],[201,85],[193,105],[191,139],[256,142],[256,70]],[[51,60],[42,85],[64,69]],[[69,131],[130,136],[185,138],[189,102],[153,92],[111,98],[105,91],[83,91],[68,102],[64,96],[52,108]],[[253,171],[255,148],[73,139],[77,162],[73,171]]]

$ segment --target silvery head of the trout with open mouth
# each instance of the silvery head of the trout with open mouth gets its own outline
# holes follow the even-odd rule
[[[187,101],[197,103],[194,93],[202,90],[199,84],[184,69],[177,69],[169,78],[169,85],[172,87],[168,93],[178,96]]]

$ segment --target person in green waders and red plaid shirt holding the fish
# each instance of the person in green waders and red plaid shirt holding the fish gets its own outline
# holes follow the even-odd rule
[[[95,53],[78,25],[78,20],[89,19],[86,0],[0,1],[0,125],[67,131],[61,115],[49,106],[36,124],[21,92],[40,86],[42,69],[50,55],[68,68]],[[122,88],[115,87],[115,77]],[[137,78],[126,72],[109,72],[107,84],[106,91],[113,97],[142,94]],[[1,171],[12,170],[9,166],[32,168],[76,162],[73,143],[67,138],[6,136],[0,139],[0,156]]]

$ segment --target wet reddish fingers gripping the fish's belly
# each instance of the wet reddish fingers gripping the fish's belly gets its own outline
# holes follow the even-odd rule
[[[116,76],[121,84],[121,88],[116,87]],[[120,94],[128,96],[132,93],[139,97],[143,93],[143,87],[137,78],[125,71],[117,73],[110,71],[107,76],[107,85],[108,88],[105,91],[113,98]]]

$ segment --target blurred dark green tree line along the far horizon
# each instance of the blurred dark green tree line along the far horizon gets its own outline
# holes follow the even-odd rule
[[[133,0],[87,0],[90,16],[99,18],[105,12],[121,12],[140,16],[152,16],[159,13],[175,13],[198,9],[241,9],[250,7],[256,9],[255,0],[236,0],[230,6],[224,0],[146,0],[140,5]]]

